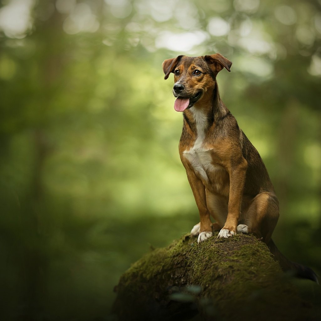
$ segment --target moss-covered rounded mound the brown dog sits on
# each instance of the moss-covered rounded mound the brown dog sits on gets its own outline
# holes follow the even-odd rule
[[[302,320],[308,308],[265,243],[238,234],[157,248],[120,278],[118,320]]]

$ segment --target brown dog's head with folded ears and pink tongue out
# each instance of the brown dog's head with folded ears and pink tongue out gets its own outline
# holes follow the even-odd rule
[[[220,54],[166,59],[163,62],[165,79],[174,73],[175,110],[184,111],[201,100],[205,92],[214,88],[216,75],[224,67],[230,71],[231,65],[230,60]]]

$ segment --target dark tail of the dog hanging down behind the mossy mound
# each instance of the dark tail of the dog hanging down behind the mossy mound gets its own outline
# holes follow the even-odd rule
[[[279,251],[272,239],[267,243],[267,246],[269,247],[271,253],[274,255],[275,259],[280,263],[281,268],[284,272],[290,272],[295,277],[309,279],[319,284],[317,274],[314,273],[312,269],[310,269],[308,266],[304,266],[288,260]]]

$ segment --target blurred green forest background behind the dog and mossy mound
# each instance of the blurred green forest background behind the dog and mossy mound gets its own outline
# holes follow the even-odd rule
[[[4,316],[108,318],[130,264],[198,222],[161,68],[179,54],[233,62],[221,98],[280,199],[274,241],[320,274],[320,0],[0,3]]]

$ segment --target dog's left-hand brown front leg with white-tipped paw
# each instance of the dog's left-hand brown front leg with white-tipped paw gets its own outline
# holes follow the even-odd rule
[[[197,242],[200,243],[213,235],[212,221],[210,219],[210,212],[206,206],[206,192],[204,184],[192,169],[187,168],[186,173],[200,214],[200,233],[197,239]]]

